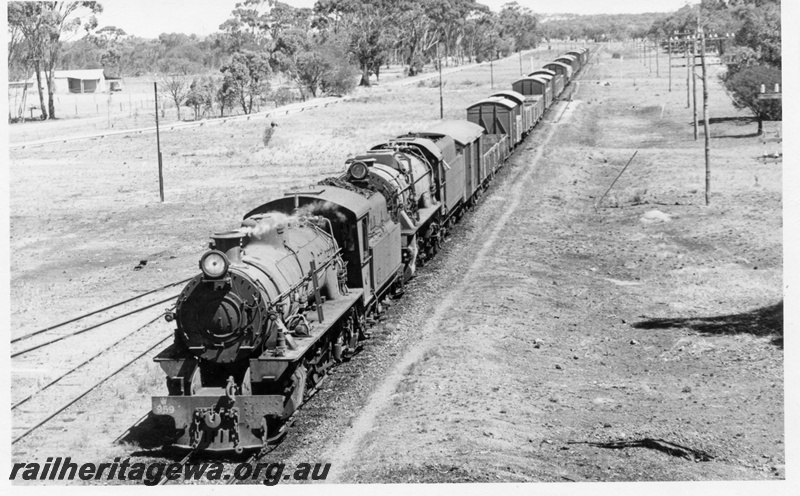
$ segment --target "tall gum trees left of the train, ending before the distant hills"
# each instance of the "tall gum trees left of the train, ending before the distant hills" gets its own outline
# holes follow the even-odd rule
[[[233,106],[250,113],[292,98],[286,88],[272,91],[275,75],[302,99],[343,94],[369,86],[387,64],[414,75],[439,57],[446,65],[481,61],[538,40],[538,17],[516,2],[494,13],[475,0],[318,0],[312,9],[244,0],[219,32],[158,39],[99,27],[102,11],[99,2],[8,2],[9,78],[36,75],[42,119],[56,117],[56,69],[156,76],[163,94],[196,116]]]

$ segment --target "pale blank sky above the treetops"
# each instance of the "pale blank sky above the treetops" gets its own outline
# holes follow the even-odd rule
[[[219,31],[241,0],[101,0],[100,27],[116,26],[126,33],[156,38],[161,33],[207,35]],[[315,0],[283,0],[295,7],[313,7]],[[517,0],[534,12],[621,14],[672,12],[699,0]],[[498,11],[508,0],[478,0]]]

